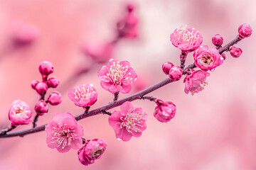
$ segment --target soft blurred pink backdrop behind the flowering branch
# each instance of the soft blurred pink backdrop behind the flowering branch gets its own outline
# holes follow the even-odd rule
[[[223,35],[224,44],[238,35],[238,26],[249,23],[256,28],[256,1],[252,0],[137,0],[139,38],[122,40],[113,57],[129,60],[137,71],[134,86],[151,86],[165,74],[161,64],[179,64],[179,50],[169,41],[175,28],[188,25],[203,35],[203,44],[213,47],[211,37]],[[122,0],[9,0],[0,1],[0,128],[9,124],[11,103],[20,98],[33,107],[39,96],[31,89],[33,79],[41,79],[38,64],[53,63],[53,76],[60,79],[63,103],[49,108],[38,121],[48,123],[56,113],[82,113],[67,96],[64,86],[94,84],[98,101],[92,108],[112,101],[113,96],[100,87],[97,64],[93,69],[66,84],[80,63],[87,62],[80,51],[84,40],[111,40],[115,22],[124,14]],[[38,38],[31,44],[14,45],[11,28],[17,21],[38,27]],[[95,164],[83,166],[77,151],[61,154],[46,145],[46,132],[0,139],[1,170],[44,169],[181,169],[250,170],[256,169],[256,35],[242,40],[238,59],[230,57],[208,78],[208,86],[199,94],[186,95],[178,81],[149,94],[176,104],[176,117],[159,123],[153,116],[154,103],[134,101],[149,118],[142,137],[122,142],[114,136],[107,115],[80,120],[85,138],[102,138],[107,150]],[[193,62],[188,56],[186,64]],[[139,82],[137,82],[139,83]],[[140,88],[140,87],[138,87]],[[134,94],[121,94],[120,98]],[[119,108],[117,108],[119,109]],[[18,130],[30,128],[23,125]]]

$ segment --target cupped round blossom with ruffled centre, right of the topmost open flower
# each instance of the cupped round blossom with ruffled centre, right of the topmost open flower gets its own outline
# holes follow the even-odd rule
[[[220,55],[218,50],[214,48],[208,48],[207,45],[200,47],[198,51],[193,53],[196,67],[207,71],[218,67],[223,64],[224,58]]]

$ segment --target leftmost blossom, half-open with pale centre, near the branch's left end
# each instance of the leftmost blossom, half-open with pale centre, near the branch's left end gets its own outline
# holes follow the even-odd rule
[[[12,125],[27,125],[32,122],[31,116],[31,107],[25,101],[16,100],[11,104],[9,120]]]

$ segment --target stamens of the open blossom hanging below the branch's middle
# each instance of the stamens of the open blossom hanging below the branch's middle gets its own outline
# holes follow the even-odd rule
[[[126,128],[128,132],[138,132],[139,128],[143,127],[141,123],[144,113],[134,110],[134,108],[130,108],[127,114],[120,118],[122,120],[120,128]]]

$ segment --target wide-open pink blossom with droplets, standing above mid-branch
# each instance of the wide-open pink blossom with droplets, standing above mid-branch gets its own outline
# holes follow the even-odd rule
[[[128,61],[111,60],[107,66],[100,69],[98,77],[103,89],[112,94],[118,91],[127,94],[131,91],[131,84],[137,79],[137,74]]]

